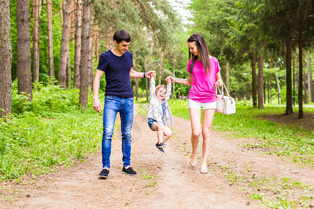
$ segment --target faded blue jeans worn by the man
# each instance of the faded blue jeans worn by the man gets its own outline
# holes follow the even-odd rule
[[[131,129],[133,124],[133,98],[117,98],[105,96],[103,108],[103,169],[110,169],[111,141],[114,132],[114,122],[120,113],[122,135],[122,161],[124,167],[130,166]]]

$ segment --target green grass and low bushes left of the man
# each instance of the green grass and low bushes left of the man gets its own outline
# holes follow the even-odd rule
[[[24,97],[13,83],[13,114],[0,121],[1,180],[36,178],[99,148],[102,118],[91,107],[91,95],[85,111],[74,88],[38,84],[32,102]]]

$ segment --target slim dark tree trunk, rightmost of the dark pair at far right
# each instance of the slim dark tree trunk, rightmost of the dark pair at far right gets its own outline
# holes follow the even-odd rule
[[[298,89],[298,104],[299,104],[299,118],[303,118],[303,65],[302,65],[302,56],[303,56],[303,47],[302,47],[302,33],[299,31],[298,37],[299,45],[299,89]]]

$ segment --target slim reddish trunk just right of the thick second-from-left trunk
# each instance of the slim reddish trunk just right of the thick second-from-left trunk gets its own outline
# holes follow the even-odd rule
[[[39,33],[38,33],[39,1],[33,0],[33,83],[39,79]]]

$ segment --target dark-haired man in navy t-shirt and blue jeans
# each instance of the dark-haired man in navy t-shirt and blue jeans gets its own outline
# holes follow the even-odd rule
[[[130,167],[131,129],[133,124],[133,91],[130,78],[156,77],[154,71],[136,72],[133,67],[133,54],[128,52],[130,35],[121,30],[114,33],[114,48],[101,54],[94,79],[94,104],[95,111],[101,111],[98,99],[100,79],[105,72],[105,105],[103,111],[103,170],[99,176],[107,178],[110,169],[111,139],[117,113],[121,118],[122,153],[124,167],[122,173],[135,176],[136,172]]]

